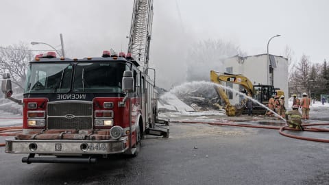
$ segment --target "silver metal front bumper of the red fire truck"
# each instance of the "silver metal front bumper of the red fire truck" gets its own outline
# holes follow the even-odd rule
[[[127,136],[118,140],[5,140],[6,153],[47,155],[83,155],[123,153],[128,149]]]

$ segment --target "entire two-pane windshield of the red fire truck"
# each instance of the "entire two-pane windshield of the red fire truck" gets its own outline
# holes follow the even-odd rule
[[[73,71],[74,93],[121,93],[127,70],[129,66],[121,62],[34,63],[27,73],[25,93],[69,93]]]

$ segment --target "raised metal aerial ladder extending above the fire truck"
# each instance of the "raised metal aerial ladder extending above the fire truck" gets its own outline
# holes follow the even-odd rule
[[[152,21],[153,0],[134,0],[127,52],[136,56],[145,74],[147,74],[149,64]]]

